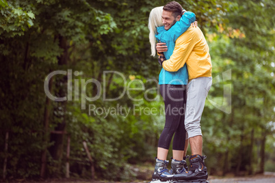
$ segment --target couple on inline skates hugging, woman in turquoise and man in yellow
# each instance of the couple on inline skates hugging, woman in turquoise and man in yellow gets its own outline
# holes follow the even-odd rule
[[[179,113],[166,111],[152,182],[204,182],[208,178],[206,156],[202,156],[200,118],[212,84],[212,65],[209,46],[195,20],[195,14],[183,10],[176,1],[153,8],[150,12],[151,52],[155,56],[157,49],[162,67],[159,73],[160,93],[166,109],[179,109]],[[185,110],[185,115],[181,110]],[[173,136],[172,169],[168,170],[166,158]],[[189,168],[185,161],[188,141],[192,151]]]

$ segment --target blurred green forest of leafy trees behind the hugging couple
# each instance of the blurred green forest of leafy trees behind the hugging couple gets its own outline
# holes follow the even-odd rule
[[[147,26],[167,2],[0,0],[2,180],[135,180],[133,165],[153,167],[165,115]],[[210,47],[209,174],[275,171],[275,2],[178,2]]]

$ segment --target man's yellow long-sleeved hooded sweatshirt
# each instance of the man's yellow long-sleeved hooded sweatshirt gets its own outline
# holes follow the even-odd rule
[[[189,81],[198,77],[210,77],[212,64],[209,46],[198,27],[190,26],[176,39],[176,46],[170,59],[163,61],[164,70],[176,72],[187,64]]]

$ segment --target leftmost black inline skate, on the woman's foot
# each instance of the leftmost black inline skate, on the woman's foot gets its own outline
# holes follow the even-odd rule
[[[159,160],[156,158],[155,171],[152,175],[152,182],[155,180],[168,181],[173,180],[173,175],[169,173],[167,169],[169,161],[168,160]]]

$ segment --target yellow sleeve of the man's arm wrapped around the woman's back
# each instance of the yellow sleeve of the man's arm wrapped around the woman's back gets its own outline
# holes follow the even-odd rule
[[[192,31],[187,31],[178,40],[174,46],[173,54],[170,59],[163,61],[162,67],[164,70],[176,72],[184,66],[189,55],[196,44],[193,38]]]

